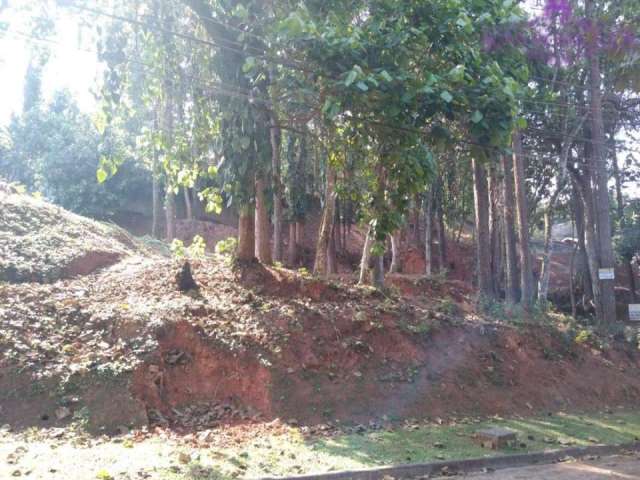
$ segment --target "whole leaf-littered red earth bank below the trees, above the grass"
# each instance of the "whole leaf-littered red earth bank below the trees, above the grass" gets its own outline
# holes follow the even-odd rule
[[[64,232],[75,216],[54,208],[46,222]],[[149,414],[190,428],[312,425],[640,401],[637,343],[578,343],[558,316],[479,314],[461,280],[390,275],[381,293],[351,276],[325,282],[214,256],[191,260],[199,289],[183,293],[181,263],[115,234],[96,238],[100,248],[89,238],[65,265],[101,258],[86,252],[103,243],[120,245],[117,263],[0,284],[0,424],[75,417],[110,432]],[[11,258],[22,258],[24,244],[14,245]],[[117,403],[97,401],[105,397]]]

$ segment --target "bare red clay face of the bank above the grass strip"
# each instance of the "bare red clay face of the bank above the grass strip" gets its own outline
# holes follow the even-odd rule
[[[264,291],[286,290],[289,305],[308,302],[291,279],[285,283],[282,290],[267,285]],[[306,424],[383,415],[526,414],[640,401],[640,356],[626,344],[602,353],[563,341],[551,328],[519,329],[473,316],[463,321],[459,311],[424,310],[410,300],[327,300],[322,292],[329,287],[316,288],[333,315],[303,308],[296,310],[294,324],[269,316],[274,329],[286,332],[274,355],[255,344],[231,352],[211,342],[197,322],[168,326],[156,354],[136,371],[134,394],[168,417],[173,407],[233,401],[266,420]],[[459,284],[446,287],[456,291],[460,298],[466,294]],[[437,303],[438,297],[426,296]],[[184,360],[168,363],[176,352]]]

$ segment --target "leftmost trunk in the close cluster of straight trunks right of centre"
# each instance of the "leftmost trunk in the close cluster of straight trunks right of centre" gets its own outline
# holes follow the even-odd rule
[[[476,228],[476,260],[478,269],[478,291],[485,298],[493,298],[493,282],[491,278],[491,241],[489,238],[489,192],[487,172],[482,164],[474,158],[473,164],[473,198]]]

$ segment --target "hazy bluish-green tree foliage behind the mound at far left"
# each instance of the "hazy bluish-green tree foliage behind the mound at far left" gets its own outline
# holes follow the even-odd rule
[[[67,91],[14,117],[6,135],[10,141],[0,149],[0,176],[68,210],[110,218],[149,191],[143,172],[130,162],[121,166],[117,180],[96,182],[100,136]]]

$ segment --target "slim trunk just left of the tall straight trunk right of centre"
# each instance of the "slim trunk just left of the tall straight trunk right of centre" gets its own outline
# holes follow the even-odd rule
[[[516,252],[515,212],[516,203],[513,191],[513,168],[506,155],[501,158],[504,175],[502,222],[505,241],[505,290],[504,296],[507,303],[514,304],[518,301],[518,254]]]

